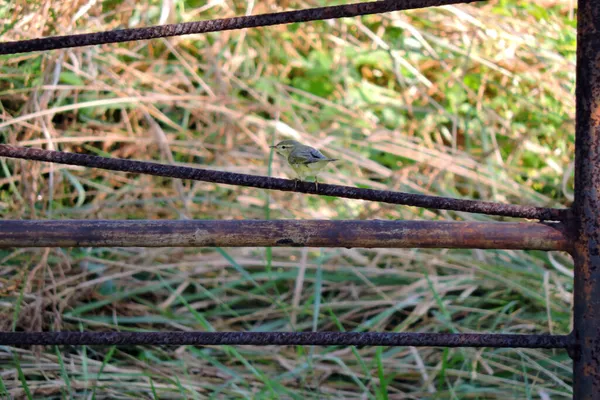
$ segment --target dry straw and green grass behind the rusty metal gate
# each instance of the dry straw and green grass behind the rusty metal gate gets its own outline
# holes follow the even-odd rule
[[[0,7],[0,40],[154,25],[162,7],[113,0],[77,14],[85,4]],[[165,22],[249,5],[180,0]],[[0,140],[283,177],[291,171],[268,146],[295,138],[341,160],[324,182],[565,207],[573,11],[503,0],[2,56]],[[4,219],[497,220],[0,161]],[[0,265],[5,331],[571,330],[572,261],[558,252],[5,249]],[[0,356],[0,392],[15,398],[572,397],[558,350],[84,346]]]

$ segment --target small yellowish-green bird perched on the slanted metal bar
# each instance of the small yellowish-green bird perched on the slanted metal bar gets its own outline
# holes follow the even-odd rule
[[[315,177],[315,188],[319,189],[317,174],[330,162],[337,161],[336,158],[327,158],[319,150],[306,146],[295,140],[284,140],[275,146],[269,146],[279,154],[287,157],[287,161],[294,169],[298,180],[304,180],[307,176]],[[294,186],[294,189],[296,186]]]

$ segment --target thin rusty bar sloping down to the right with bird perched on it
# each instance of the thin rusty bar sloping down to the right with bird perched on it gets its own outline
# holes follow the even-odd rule
[[[133,172],[138,174],[178,179],[191,179],[227,185],[249,186],[260,189],[378,201],[382,203],[402,204],[414,207],[453,210],[505,217],[539,219],[541,221],[562,221],[565,219],[568,211],[568,209],[452,199],[448,197],[392,192],[389,190],[373,190],[350,186],[328,185],[325,183],[319,183],[319,187],[316,188],[314,183],[300,182],[296,184],[293,180],[289,179],[237,174],[233,172],[213,171],[200,168],[179,167],[153,162],[99,157],[88,154],[15,147],[6,144],[0,144],[0,157],[46,161],[58,164],[80,165],[84,167],[107,169],[111,171]]]

